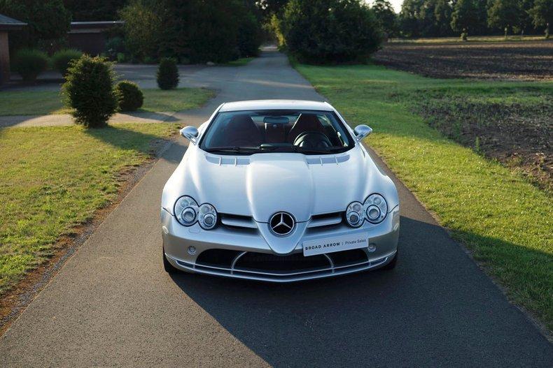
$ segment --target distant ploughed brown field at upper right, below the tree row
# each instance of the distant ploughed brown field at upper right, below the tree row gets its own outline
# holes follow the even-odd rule
[[[553,80],[553,40],[388,43],[374,61],[435,78]]]

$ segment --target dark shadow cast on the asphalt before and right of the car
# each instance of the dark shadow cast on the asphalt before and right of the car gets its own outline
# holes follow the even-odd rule
[[[391,271],[286,285],[195,274],[174,281],[276,367],[548,366],[547,341],[519,330],[528,323],[511,324],[525,317],[442,228],[406,217],[401,226]],[[536,341],[515,344],[517,335]]]

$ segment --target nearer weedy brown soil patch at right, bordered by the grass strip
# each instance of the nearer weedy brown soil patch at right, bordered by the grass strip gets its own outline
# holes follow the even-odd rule
[[[543,103],[436,103],[416,112],[449,138],[519,170],[531,182],[553,193],[553,96]]]

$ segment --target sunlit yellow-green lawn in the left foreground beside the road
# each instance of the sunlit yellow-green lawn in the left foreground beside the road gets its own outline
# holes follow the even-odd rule
[[[175,131],[167,123],[0,129],[0,295],[116,198],[118,174]]]

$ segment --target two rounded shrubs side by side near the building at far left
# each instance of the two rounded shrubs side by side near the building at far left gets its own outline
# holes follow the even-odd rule
[[[34,82],[36,77],[48,68],[48,64],[65,75],[71,61],[82,55],[83,52],[78,50],[64,49],[55,52],[51,58],[48,58],[48,55],[40,50],[21,49],[15,54],[13,69],[20,73],[25,82]]]

